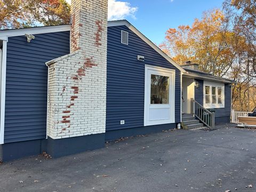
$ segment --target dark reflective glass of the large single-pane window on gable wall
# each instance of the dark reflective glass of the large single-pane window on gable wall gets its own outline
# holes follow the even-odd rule
[[[151,74],[150,104],[169,104],[169,77]]]

